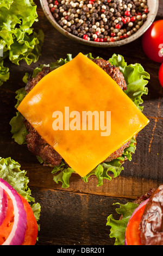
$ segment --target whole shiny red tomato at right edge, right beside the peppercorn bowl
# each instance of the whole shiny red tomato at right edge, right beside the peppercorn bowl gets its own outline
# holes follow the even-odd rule
[[[142,36],[143,51],[154,62],[163,62],[163,20],[155,21]]]

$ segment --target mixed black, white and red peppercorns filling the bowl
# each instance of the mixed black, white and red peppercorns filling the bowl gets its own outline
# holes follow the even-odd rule
[[[114,42],[134,34],[147,19],[147,0],[47,0],[67,32],[96,42]]]

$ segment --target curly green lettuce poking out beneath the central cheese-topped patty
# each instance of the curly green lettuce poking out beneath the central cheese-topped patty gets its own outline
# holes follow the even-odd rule
[[[93,59],[92,54],[89,53],[86,55],[87,57]],[[97,57],[99,58],[99,57]],[[64,65],[68,61],[72,60],[72,55],[67,54],[66,59],[60,58],[57,62],[51,63],[51,65],[47,65],[51,68],[51,70],[59,68],[61,65]],[[140,106],[143,103],[142,95],[148,93],[148,89],[146,87],[149,74],[143,69],[140,64],[130,64],[124,61],[124,58],[121,55],[114,54],[110,59],[109,62],[112,65],[117,66],[120,68],[122,74],[124,75],[128,89],[125,93],[130,97],[131,100],[135,103],[135,105],[142,111],[143,107]],[[32,77],[35,77],[43,68],[41,65],[36,68],[33,72]],[[28,74],[23,77],[23,81],[26,83],[28,80]],[[17,104],[16,107],[21,102],[23,96],[25,96],[24,88],[18,90],[16,92],[17,96]],[[11,125],[11,133],[12,138],[14,138],[15,142],[18,144],[26,143],[26,127],[24,126],[22,115],[19,112],[16,112],[16,116],[13,117],[10,121]],[[112,176],[115,178],[120,175],[121,171],[124,169],[122,164],[124,160],[128,159],[131,161],[132,154],[135,153],[136,148],[136,141],[134,138],[130,140],[130,145],[128,148],[124,149],[123,154],[121,157],[118,157],[115,160],[110,162],[103,162],[99,164],[95,169],[93,169],[89,174],[87,174],[84,178],[84,182],[87,182],[91,175],[96,175],[97,177],[97,186],[103,185],[103,179],[111,180]],[[37,156],[37,159],[40,163],[43,163],[41,157]],[[71,167],[68,167],[65,162],[61,162],[60,166],[55,166],[52,170],[53,180],[58,184],[61,182],[62,187],[67,188],[70,186],[70,178],[74,170]]]

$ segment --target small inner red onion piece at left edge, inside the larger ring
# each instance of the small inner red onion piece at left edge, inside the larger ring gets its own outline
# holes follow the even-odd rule
[[[8,197],[3,188],[0,187],[0,225],[2,225],[8,208]]]

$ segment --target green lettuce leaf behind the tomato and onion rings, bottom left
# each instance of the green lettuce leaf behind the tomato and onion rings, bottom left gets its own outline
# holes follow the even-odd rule
[[[28,187],[29,179],[26,176],[27,172],[20,168],[21,165],[12,160],[11,157],[6,159],[0,157],[0,178],[7,181],[21,196],[26,198],[34,212],[36,221],[39,221],[41,206],[39,203],[35,203],[35,199],[32,197]],[[40,230],[38,224],[37,227]]]

